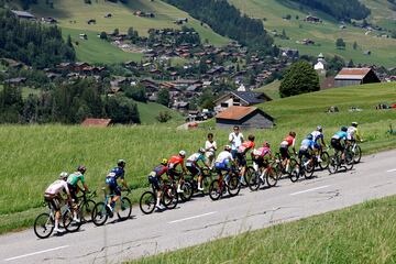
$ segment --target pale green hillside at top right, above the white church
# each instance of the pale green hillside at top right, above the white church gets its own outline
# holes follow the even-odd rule
[[[284,6],[279,0],[230,0],[230,2],[251,16],[257,19],[266,18],[267,21],[264,22],[264,25],[268,31],[277,30],[278,33],[282,33],[284,29],[290,40],[275,38],[276,43],[285,47],[296,47],[300,51],[300,54],[315,56],[319,53],[324,55],[338,54],[346,61],[352,58],[354,63],[381,64],[387,67],[395,66],[396,53],[394,51],[396,48],[396,40],[366,36],[364,35],[364,30],[354,29],[349,25],[345,30],[340,30],[339,23],[322,13],[319,13],[319,15],[327,18],[323,24],[306,23],[301,19],[307,13],[300,12],[298,8]],[[290,21],[282,19],[286,14],[292,15]],[[299,15],[298,21],[295,19],[296,15]],[[302,28],[299,29],[299,25]],[[336,50],[336,40],[338,37],[342,37],[346,42],[345,51]],[[301,41],[302,38],[311,38],[319,43],[320,46],[306,46],[296,43],[296,41]],[[359,45],[356,51],[352,48],[353,42],[356,42]],[[363,55],[363,51],[366,50],[372,51],[371,56]]]

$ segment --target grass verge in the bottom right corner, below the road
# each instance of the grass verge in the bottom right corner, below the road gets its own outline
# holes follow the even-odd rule
[[[135,263],[395,263],[396,196]]]

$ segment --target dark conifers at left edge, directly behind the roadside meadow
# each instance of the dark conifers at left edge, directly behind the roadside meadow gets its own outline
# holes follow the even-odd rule
[[[0,91],[0,123],[80,123],[85,118],[111,118],[116,123],[140,123],[136,103],[124,96],[102,97],[92,79],[58,84],[53,90],[22,98],[21,89]]]

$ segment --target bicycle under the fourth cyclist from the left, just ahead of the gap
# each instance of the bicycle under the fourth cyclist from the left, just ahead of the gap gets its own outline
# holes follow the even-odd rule
[[[156,205],[157,191],[154,187],[154,184],[150,182],[152,190],[147,190],[143,193],[140,198],[139,206],[141,211],[144,215],[150,215],[154,211]],[[169,182],[164,180],[161,186],[162,198],[161,202],[165,206],[166,209],[174,209],[178,202],[178,196],[176,193],[175,186],[173,186]]]

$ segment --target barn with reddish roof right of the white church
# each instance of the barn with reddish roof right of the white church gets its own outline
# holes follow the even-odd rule
[[[334,80],[336,87],[381,82],[371,68],[343,68]]]

